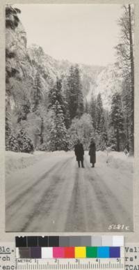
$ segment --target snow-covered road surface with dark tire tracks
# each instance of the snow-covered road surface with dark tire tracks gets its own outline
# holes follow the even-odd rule
[[[78,168],[74,152],[46,153],[6,177],[6,232],[133,231],[133,175],[88,153]]]

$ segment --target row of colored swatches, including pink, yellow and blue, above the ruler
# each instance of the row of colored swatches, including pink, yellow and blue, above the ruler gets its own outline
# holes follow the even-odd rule
[[[35,258],[35,259],[51,259],[51,258],[120,258],[121,247],[30,247],[16,248],[17,258]]]

